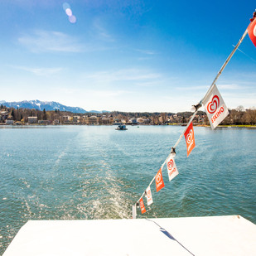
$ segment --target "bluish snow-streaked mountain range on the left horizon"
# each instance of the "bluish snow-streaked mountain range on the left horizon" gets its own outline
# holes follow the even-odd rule
[[[79,114],[85,114],[85,113],[103,113],[103,112],[109,112],[109,111],[86,111],[85,109],[79,108],[79,107],[69,107],[65,106],[63,104],[60,104],[55,101],[41,101],[38,99],[35,100],[22,100],[22,101],[12,101],[7,102],[5,100],[1,100],[0,104],[5,105],[7,108],[14,108],[14,109],[38,109],[43,110],[46,109],[46,111],[56,110],[59,109],[60,111],[68,111],[72,113],[79,113]]]

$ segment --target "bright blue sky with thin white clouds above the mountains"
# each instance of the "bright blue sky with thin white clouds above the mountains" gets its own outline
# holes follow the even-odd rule
[[[1,1],[0,100],[189,111],[255,8],[253,0]],[[256,48],[249,36],[217,86],[230,109],[256,107]]]

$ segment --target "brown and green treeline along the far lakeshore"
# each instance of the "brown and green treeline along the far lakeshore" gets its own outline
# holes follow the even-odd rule
[[[53,122],[54,120],[59,120],[60,123],[64,116],[97,116],[99,118],[107,117],[113,119],[124,119],[128,120],[128,118],[147,118],[151,120],[151,123],[159,124],[159,123],[170,123],[170,120],[178,120],[177,123],[186,123],[192,112],[178,112],[178,113],[160,113],[160,112],[120,112],[113,111],[108,113],[96,114],[96,113],[85,113],[85,114],[76,114],[71,112],[64,112],[56,109],[55,111],[46,111],[46,109],[38,110],[38,109],[14,109],[7,108],[4,105],[0,105],[1,113],[6,112],[7,118],[12,118],[14,121],[21,121],[23,123],[27,123],[28,117],[37,117],[38,120],[48,120]],[[209,124],[208,118],[204,111],[198,111],[197,119],[200,120],[200,123]],[[3,118],[0,121],[3,123]],[[171,122],[173,123],[173,122]],[[256,124],[256,109],[244,109],[243,106],[239,106],[237,109],[229,109],[229,115],[225,118],[225,120],[221,124]]]

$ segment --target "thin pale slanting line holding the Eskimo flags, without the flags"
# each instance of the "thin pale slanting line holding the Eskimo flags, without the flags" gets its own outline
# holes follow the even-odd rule
[[[184,131],[181,133],[180,138],[177,140],[177,142],[175,143],[174,147],[171,148],[171,150],[173,149],[175,152],[175,148],[178,146],[178,144],[181,142],[181,138],[183,138],[184,134],[186,133],[186,129],[189,127],[189,125],[191,124],[191,122],[193,121],[193,119],[196,116],[196,113],[198,112],[198,109],[200,109],[200,107],[202,106],[202,102],[207,98],[207,96],[210,94],[211,89],[214,87],[216,80],[218,80],[218,78],[220,77],[222,71],[225,69],[225,66],[229,63],[229,60],[232,58],[232,56],[234,55],[234,52],[239,48],[241,42],[244,40],[244,37],[248,34],[248,30],[246,29],[244,31],[243,36],[239,39],[239,42],[237,43],[237,45],[234,47],[234,50],[229,54],[229,57],[225,60],[225,63],[221,66],[220,71],[218,72],[218,74],[215,77],[215,80],[213,80],[212,84],[210,85],[210,88],[207,90],[205,96],[203,97],[203,99],[200,100],[199,104],[194,105],[194,107],[196,108],[194,114],[191,116],[190,121],[186,124],[186,128],[184,129]],[[169,157],[171,156],[171,152],[169,153],[168,157],[166,158],[166,160],[162,163],[162,169],[164,167],[164,165],[167,162],[167,159],[169,159]],[[152,182],[155,180],[156,175],[152,178],[152,181],[150,181],[148,186],[151,186]],[[142,196],[138,199],[138,201],[135,204],[138,204],[139,200],[141,200],[141,198],[145,195],[145,191],[143,192]]]

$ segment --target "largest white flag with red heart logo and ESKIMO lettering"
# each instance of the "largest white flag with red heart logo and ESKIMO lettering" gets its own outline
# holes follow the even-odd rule
[[[208,96],[202,103],[204,104],[205,112],[209,118],[210,127],[212,129],[216,128],[218,124],[229,114],[229,110],[226,107],[216,85],[210,89]]]

